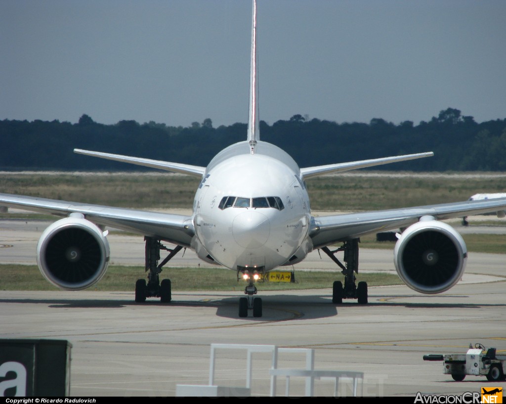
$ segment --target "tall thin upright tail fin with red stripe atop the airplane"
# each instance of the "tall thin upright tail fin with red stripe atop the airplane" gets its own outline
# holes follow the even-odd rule
[[[257,2],[253,0],[253,19],[251,22],[251,62],[249,66],[249,117],[248,138],[251,154],[255,154],[257,140],[260,140],[260,121],[258,117],[258,56],[257,56]]]

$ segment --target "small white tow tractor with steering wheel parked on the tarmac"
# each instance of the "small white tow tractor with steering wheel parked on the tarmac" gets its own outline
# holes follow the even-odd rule
[[[466,354],[431,354],[424,355],[424,360],[443,360],[444,374],[451,375],[457,382],[464,380],[466,375],[484,375],[489,381],[498,382],[506,379],[506,355],[496,355],[495,351],[495,348],[486,350],[482,344],[475,344],[474,348],[470,345]]]

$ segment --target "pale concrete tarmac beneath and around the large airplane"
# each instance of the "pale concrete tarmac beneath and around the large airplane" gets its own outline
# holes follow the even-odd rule
[[[44,227],[0,221],[1,262],[34,262]],[[142,237],[114,233],[110,243],[113,262],[143,261]],[[194,266],[193,256],[187,251],[178,259]],[[391,250],[364,249],[360,268],[392,271],[392,258]],[[314,349],[317,370],[363,372],[361,394],[368,397],[459,395],[494,383],[481,376],[455,382],[443,374],[442,362],[424,361],[423,355],[465,353],[470,343],[506,352],[505,263],[502,254],[470,253],[466,274],[449,291],[422,295],[406,286],[369,288],[367,305],[355,300],[333,305],[330,289],[260,288],[261,318],[237,316],[237,292],[173,290],[170,304],[159,299],[136,304],[133,290],[0,291],[0,338],[69,341],[71,396],[175,396],[179,384],[208,384],[210,344]],[[296,270],[322,267],[335,265],[312,253]],[[254,354],[251,395],[269,395],[270,360],[269,354]],[[305,357],[280,354],[278,367],[303,369]],[[219,351],[215,384],[244,387],[246,368],[245,352]],[[340,394],[350,395],[349,383],[342,383]],[[278,378],[276,386],[283,395],[285,379]],[[304,378],[290,379],[290,395],[304,395],[304,387]],[[315,381],[316,395],[333,393],[332,380]]]

